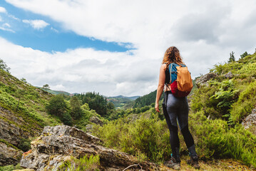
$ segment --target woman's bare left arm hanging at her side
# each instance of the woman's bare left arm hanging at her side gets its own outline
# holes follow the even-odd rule
[[[163,93],[163,88],[165,87],[165,68],[166,64],[163,64],[160,67],[160,73],[159,73],[159,82],[158,82],[158,90],[156,91],[156,98],[155,98],[155,110],[157,112],[160,112],[159,110],[159,100]]]

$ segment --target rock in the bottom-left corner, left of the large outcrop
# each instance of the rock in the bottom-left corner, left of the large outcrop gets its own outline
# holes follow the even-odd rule
[[[21,160],[22,151],[0,141],[0,166],[17,165]]]

